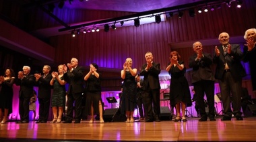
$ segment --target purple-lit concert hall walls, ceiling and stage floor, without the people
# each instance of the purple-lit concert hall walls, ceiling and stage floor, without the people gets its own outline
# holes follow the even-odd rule
[[[193,98],[189,68],[193,43],[201,42],[203,51],[213,56],[214,47],[220,45],[218,36],[225,31],[230,44],[239,44],[243,52],[245,31],[255,28],[255,7],[254,0],[0,0],[0,76],[9,67],[15,75],[23,66],[30,66],[32,74],[42,72],[45,64],[57,71],[59,64],[67,64],[71,58],[77,58],[87,74],[90,64],[96,63],[102,74],[103,108],[110,113],[103,114],[109,117],[105,123],[88,123],[90,117],[83,115],[79,124],[53,124],[49,123],[54,119],[50,107],[47,123],[35,123],[30,111],[29,123],[17,124],[20,86],[13,84],[12,113],[7,123],[0,124],[0,141],[255,141],[256,92],[249,63],[241,61],[247,74],[242,80],[243,95],[249,97],[242,102],[243,121],[236,121],[234,116],[231,121],[220,120],[224,114],[216,80],[216,121],[199,122],[193,101],[185,110],[187,122],[174,122],[177,112],[168,98],[170,74],[165,70],[170,52],[179,52]],[[199,9],[204,11],[199,13]],[[132,58],[139,73],[146,63],[146,52],[152,52],[154,61],[160,63],[162,120],[138,121],[139,109],[135,108],[134,123],[115,122],[123,62]],[[215,72],[216,65],[211,68]],[[34,90],[38,92],[38,87]],[[36,101],[36,120],[38,106]]]

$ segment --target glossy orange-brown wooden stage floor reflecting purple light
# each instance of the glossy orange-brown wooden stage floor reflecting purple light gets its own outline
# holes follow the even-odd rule
[[[244,121],[0,124],[0,141],[256,141],[256,117]]]

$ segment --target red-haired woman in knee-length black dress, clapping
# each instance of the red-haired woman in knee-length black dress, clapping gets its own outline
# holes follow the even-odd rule
[[[187,104],[191,104],[191,94],[189,91],[189,83],[187,82],[187,78],[185,78],[186,68],[184,62],[179,60],[180,58],[181,56],[178,52],[170,52],[170,64],[167,66],[166,71],[168,71],[171,76],[170,103],[175,104],[177,112],[177,117],[174,121],[182,120],[186,122],[185,109]]]

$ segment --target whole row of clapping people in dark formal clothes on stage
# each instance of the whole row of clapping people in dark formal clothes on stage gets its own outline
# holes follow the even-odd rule
[[[189,58],[189,68],[192,70],[192,83],[197,94],[197,102],[199,104],[199,121],[216,121],[214,114],[214,82],[217,79],[220,84],[222,94],[222,102],[224,106],[224,117],[222,121],[230,121],[232,115],[236,120],[241,121],[241,95],[242,95],[242,78],[246,75],[241,61],[249,62],[251,69],[251,80],[253,90],[256,90],[255,76],[255,56],[256,56],[256,29],[248,29],[245,32],[245,40],[247,44],[243,52],[238,44],[229,43],[229,35],[222,32],[219,35],[220,46],[216,46],[215,54],[212,58],[211,54],[203,52],[201,42],[193,44],[193,54]],[[160,74],[160,64],[154,62],[153,54],[147,52],[145,54],[146,64],[141,66],[140,76],[137,69],[132,68],[133,61],[127,58],[121,70],[121,78],[123,82],[123,105],[127,115],[127,123],[133,123],[133,112],[136,102],[143,104],[143,109],[139,105],[139,110],[144,111],[141,117],[145,122],[160,122],[160,82],[158,75]],[[170,63],[166,70],[171,76],[170,80],[170,104],[175,106],[177,117],[175,122],[187,121],[185,117],[185,108],[191,104],[191,94],[189,84],[185,78],[186,67],[184,62],[180,60],[181,56],[178,52],[170,52]],[[216,64],[215,76],[211,70],[212,64]],[[100,116],[100,123],[104,123],[103,119],[103,102],[101,98],[100,79],[101,74],[98,72],[97,64],[90,64],[90,71],[86,76],[85,69],[78,66],[77,58],[71,58],[71,62],[58,66],[58,72],[52,72],[51,66],[44,65],[43,74],[30,74],[30,66],[24,66],[23,71],[18,72],[18,78],[15,79],[15,73],[11,68],[7,68],[4,76],[0,76],[0,122],[6,123],[7,116],[12,112],[13,84],[20,86],[19,91],[19,113],[20,121],[17,123],[28,123],[29,104],[34,96],[34,86],[38,86],[38,102],[39,102],[39,119],[36,123],[46,123],[49,117],[49,107],[53,109],[53,121],[50,123],[60,123],[65,109],[65,96],[67,94],[67,115],[63,123],[80,123],[82,119],[82,96],[86,94],[86,115],[91,115],[89,123],[94,122],[94,115]],[[84,85],[84,81],[86,85]],[[65,89],[65,84],[69,87]],[[84,88],[84,86],[86,88]],[[51,88],[53,94],[51,95]],[[138,94],[139,96],[136,96]],[[230,106],[232,94],[232,109]],[[205,112],[204,95],[207,98],[209,106],[208,115]],[[138,101],[139,100],[139,101]],[[51,105],[50,105],[51,102]],[[75,116],[73,111],[75,110]],[[180,111],[181,110],[181,111]]]

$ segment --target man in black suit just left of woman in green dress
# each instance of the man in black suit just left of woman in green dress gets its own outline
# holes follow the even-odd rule
[[[36,78],[36,86],[38,86],[38,102],[39,102],[39,119],[36,123],[46,123],[49,116],[50,100],[51,100],[51,66],[44,65],[41,74],[34,74]]]

